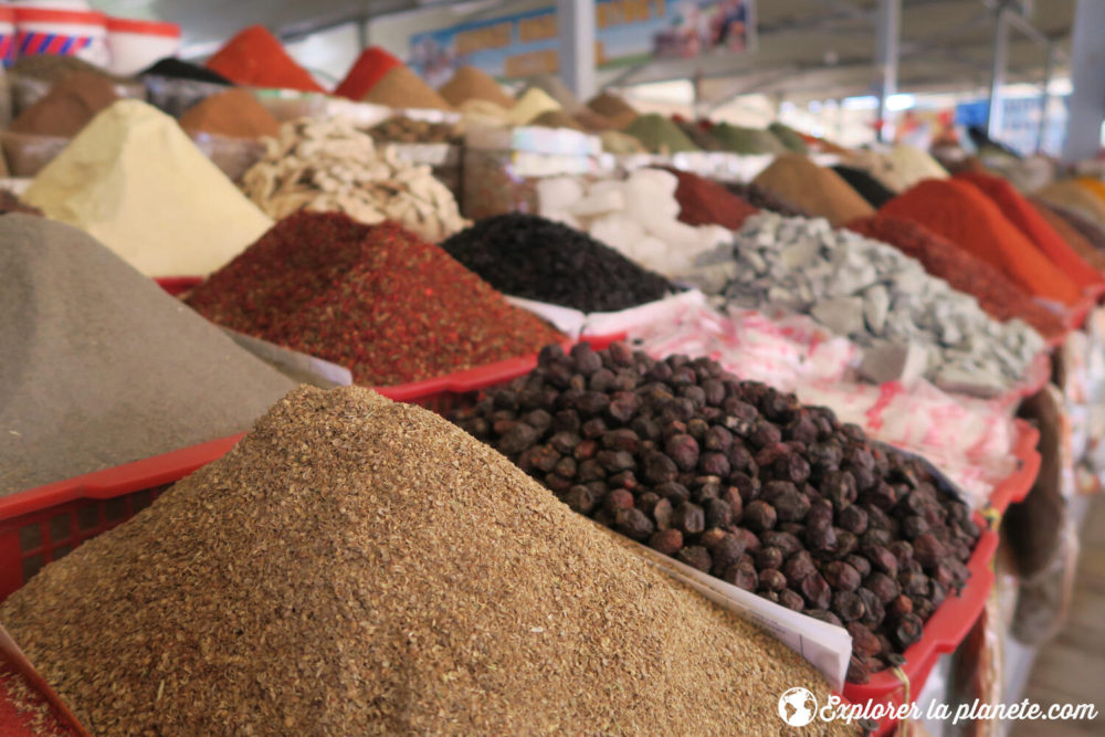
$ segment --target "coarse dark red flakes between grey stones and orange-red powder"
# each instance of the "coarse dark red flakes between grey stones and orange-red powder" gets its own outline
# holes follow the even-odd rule
[[[1063,335],[1066,329],[1059,315],[1032,299],[1004,273],[920,223],[876,214],[854,220],[848,228],[916,259],[933,276],[943,278],[954,289],[972,295],[997,320],[1020,318],[1048,339]]]

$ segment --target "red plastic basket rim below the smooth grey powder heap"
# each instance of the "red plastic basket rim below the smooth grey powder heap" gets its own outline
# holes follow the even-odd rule
[[[222,456],[244,434],[220,438],[171,453],[9,494],[0,497],[0,523],[74,499],[109,499],[171,484]]]

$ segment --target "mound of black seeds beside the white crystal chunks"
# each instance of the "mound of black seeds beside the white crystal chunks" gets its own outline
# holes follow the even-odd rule
[[[441,248],[496,289],[585,313],[627,309],[675,291],[587,233],[538,215],[486,218]]]

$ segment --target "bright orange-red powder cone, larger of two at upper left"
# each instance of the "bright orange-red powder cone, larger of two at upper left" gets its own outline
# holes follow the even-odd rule
[[[235,84],[324,92],[264,25],[240,31],[208,60],[207,66]]]

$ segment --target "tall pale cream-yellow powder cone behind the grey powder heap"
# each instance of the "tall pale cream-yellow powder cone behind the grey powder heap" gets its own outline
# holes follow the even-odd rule
[[[272,227],[176,120],[134,99],[93,118],[24,199],[150,276],[208,274]]]

